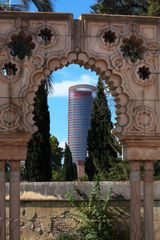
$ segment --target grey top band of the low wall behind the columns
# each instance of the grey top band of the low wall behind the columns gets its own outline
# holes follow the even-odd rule
[[[77,198],[74,187],[88,193],[94,182],[21,182],[21,201],[66,201],[67,193]],[[130,200],[130,186],[127,181],[101,182],[101,195],[105,198],[112,189],[112,197],[119,195],[120,199]],[[6,184],[6,199],[9,199],[9,184]],[[141,199],[143,199],[143,183],[141,183]],[[78,200],[78,199],[77,199]],[[154,200],[160,200],[160,181],[154,182]]]

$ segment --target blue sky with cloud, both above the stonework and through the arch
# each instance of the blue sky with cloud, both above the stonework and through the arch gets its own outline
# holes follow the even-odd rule
[[[90,13],[90,6],[95,0],[56,0],[55,12],[72,13],[79,18],[82,13]],[[61,146],[68,138],[68,88],[75,84],[96,85],[98,76],[95,72],[80,68],[78,65],[69,65],[53,74],[53,93],[48,98],[51,134],[54,134]]]

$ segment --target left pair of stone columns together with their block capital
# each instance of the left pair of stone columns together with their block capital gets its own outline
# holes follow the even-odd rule
[[[27,143],[30,133],[18,132],[0,134],[0,229],[5,240],[5,163],[10,162],[10,240],[20,240],[20,161],[27,157]]]

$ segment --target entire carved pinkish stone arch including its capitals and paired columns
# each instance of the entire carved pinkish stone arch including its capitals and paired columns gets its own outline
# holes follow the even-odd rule
[[[131,165],[130,238],[140,240],[143,162],[145,240],[154,239],[153,161],[160,159],[159,28],[159,18],[150,17],[84,14],[74,20],[72,14],[1,12],[2,239],[5,239],[5,161],[11,162],[10,235],[18,240],[19,162],[26,159],[28,140],[36,131],[34,96],[45,76],[71,63],[90,68],[108,80],[118,116],[114,132],[123,146],[124,160]],[[18,51],[17,45],[22,42],[25,47]]]

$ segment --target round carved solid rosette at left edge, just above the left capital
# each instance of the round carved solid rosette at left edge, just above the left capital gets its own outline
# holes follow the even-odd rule
[[[20,127],[21,111],[18,106],[7,104],[0,108],[0,129],[16,130]]]

